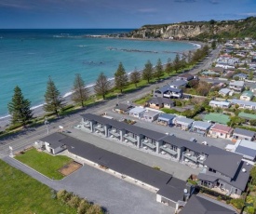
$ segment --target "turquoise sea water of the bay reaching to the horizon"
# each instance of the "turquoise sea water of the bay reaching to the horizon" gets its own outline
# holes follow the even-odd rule
[[[15,86],[21,88],[32,106],[37,106],[44,102],[49,75],[64,96],[73,87],[74,74],[81,74],[90,85],[101,72],[113,77],[120,61],[129,73],[135,67],[141,70],[146,60],[155,64],[161,59],[166,63],[175,57],[170,51],[196,48],[181,42],[84,36],[128,31],[0,30],[0,117],[7,115],[7,103]]]

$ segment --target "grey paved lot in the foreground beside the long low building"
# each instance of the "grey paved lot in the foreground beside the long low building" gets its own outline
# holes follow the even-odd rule
[[[156,202],[155,193],[88,165],[60,182],[67,191],[107,207],[112,214],[174,214],[173,208]]]

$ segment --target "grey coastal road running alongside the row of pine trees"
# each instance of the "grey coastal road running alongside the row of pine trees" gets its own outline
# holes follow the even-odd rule
[[[207,57],[205,60],[200,62],[194,69],[192,69],[188,73],[197,74],[202,69],[209,68],[210,63],[218,57],[220,50],[221,50],[220,47],[212,50],[211,53],[209,54],[209,57]],[[128,102],[128,101],[141,98],[142,96],[148,94],[155,87],[166,85],[169,81],[173,80],[174,78],[176,77],[171,77],[160,83],[155,83],[148,87],[143,87],[138,91],[121,95],[118,98],[118,102]],[[64,127],[64,129],[68,127],[74,127],[75,125],[79,124],[79,122],[81,121],[80,114],[85,114],[85,113],[101,114],[114,108],[116,103],[117,103],[117,99],[101,101],[97,105],[88,107],[86,110],[78,114],[67,115],[58,120],[55,120],[54,122],[50,123],[48,126],[49,133],[58,131],[59,126]],[[13,152],[16,153],[23,150],[24,148],[27,148],[33,145],[35,140],[39,140],[45,136],[47,136],[47,127],[41,126],[41,127],[31,127],[19,132],[18,134],[3,138],[0,140],[0,158],[7,156],[10,153],[9,146],[11,146],[13,148]]]

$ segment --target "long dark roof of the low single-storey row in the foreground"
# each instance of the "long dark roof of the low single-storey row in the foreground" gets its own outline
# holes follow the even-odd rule
[[[171,193],[168,193],[171,200],[177,201],[182,199],[180,196],[185,188],[185,181],[173,178],[166,172],[145,166],[127,157],[103,150],[86,141],[77,140],[69,136],[62,141],[72,154],[84,157],[103,167],[111,168],[135,180],[152,185],[155,188],[161,189],[163,194],[166,192],[166,189],[171,190]]]

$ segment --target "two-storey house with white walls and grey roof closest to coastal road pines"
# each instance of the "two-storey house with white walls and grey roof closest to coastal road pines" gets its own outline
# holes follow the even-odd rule
[[[160,97],[160,98],[177,98],[181,99],[183,96],[183,91],[181,88],[175,88],[175,87],[159,87],[154,90],[154,97]]]

